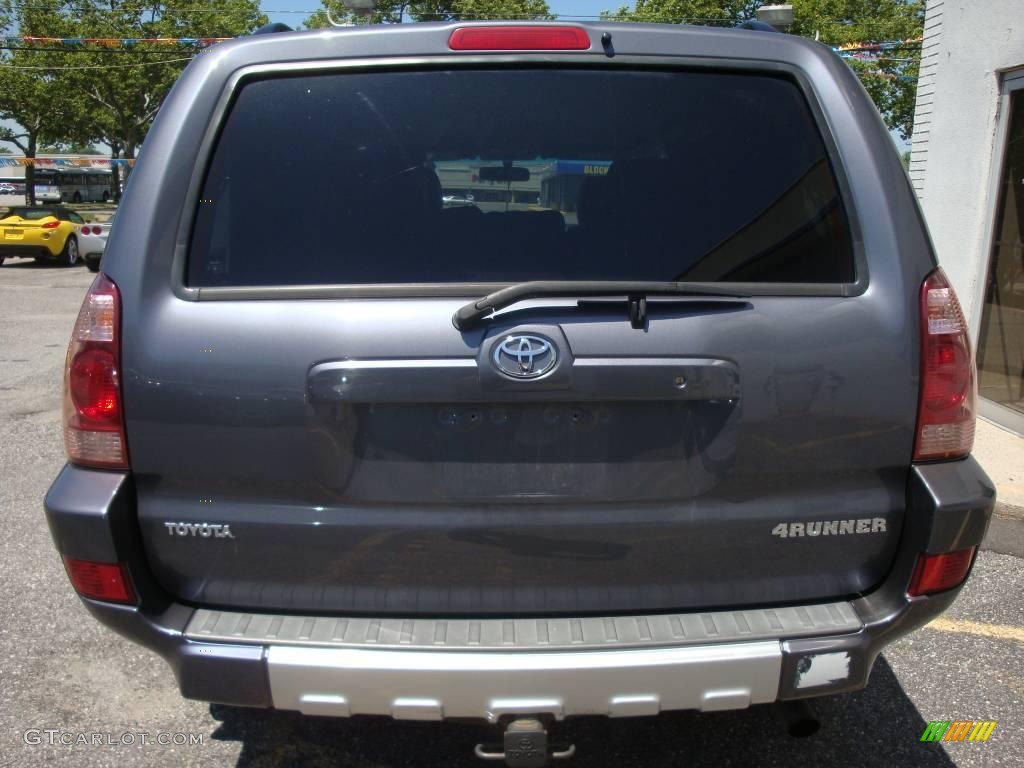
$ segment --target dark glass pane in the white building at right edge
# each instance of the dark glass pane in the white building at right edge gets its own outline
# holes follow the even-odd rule
[[[1008,118],[978,337],[978,386],[983,397],[1024,417],[1024,89],[1010,92]]]

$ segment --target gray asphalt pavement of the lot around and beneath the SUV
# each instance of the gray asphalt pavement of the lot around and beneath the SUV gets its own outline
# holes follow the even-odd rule
[[[472,756],[495,735],[479,726],[185,700],[159,657],[87,615],[42,499],[63,462],[60,377],[91,276],[27,260],[0,267],[0,765],[488,765]],[[566,768],[1024,765],[1022,625],[1024,561],[983,552],[952,609],[889,646],[864,691],[818,701],[815,736],[790,738],[770,707],[587,718],[554,735],[577,744]],[[985,743],[923,743],[931,720],[998,725]]]

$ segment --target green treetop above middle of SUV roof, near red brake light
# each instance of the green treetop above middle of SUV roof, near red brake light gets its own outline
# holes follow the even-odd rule
[[[308,29],[331,26],[331,17],[339,24],[354,24],[356,17],[341,0],[321,0],[324,8],[305,20]],[[547,0],[406,0],[392,2],[377,0],[371,24],[400,24],[406,18],[414,22],[446,22],[478,18],[554,18]]]

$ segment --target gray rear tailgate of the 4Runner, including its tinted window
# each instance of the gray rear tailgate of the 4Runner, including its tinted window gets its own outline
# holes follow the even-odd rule
[[[778,74],[245,84],[197,204],[198,300],[124,292],[158,580],[199,604],[377,614],[868,590],[903,521],[915,288],[865,290],[842,177]],[[260,216],[282,188],[302,195]],[[625,297],[452,323],[517,281],[679,279],[743,297],[650,298],[641,329]]]

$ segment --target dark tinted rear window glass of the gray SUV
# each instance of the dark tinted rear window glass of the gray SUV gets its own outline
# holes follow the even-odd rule
[[[850,283],[847,216],[785,78],[453,70],[249,82],[191,286]]]

